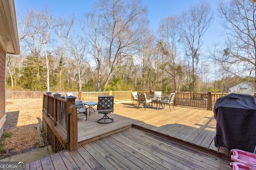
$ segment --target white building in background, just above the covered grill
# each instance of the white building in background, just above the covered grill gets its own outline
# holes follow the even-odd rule
[[[244,94],[254,94],[254,85],[248,82],[242,82],[232,88],[228,89],[229,93],[244,93]]]

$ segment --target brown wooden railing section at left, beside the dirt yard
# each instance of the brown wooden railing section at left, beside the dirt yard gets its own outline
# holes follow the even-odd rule
[[[66,99],[60,94],[43,96],[43,129],[55,152],[63,149],[75,150],[77,138],[77,107],[74,96]]]

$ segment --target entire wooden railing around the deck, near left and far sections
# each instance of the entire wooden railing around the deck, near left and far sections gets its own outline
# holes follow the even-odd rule
[[[76,98],[83,98],[84,102],[98,102],[98,96],[114,96],[114,102],[132,100],[132,91],[109,91],[109,92],[73,92],[74,96],[63,98],[61,94],[46,92],[43,94],[43,129],[46,137],[55,152],[78,148],[77,131],[77,107]],[[153,94],[153,91],[137,91]],[[162,92],[164,96],[169,96],[172,92]],[[200,107],[212,110],[216,100],[227,94],[214,94],[207,92],[183,93],[176,92],[174,106]]]

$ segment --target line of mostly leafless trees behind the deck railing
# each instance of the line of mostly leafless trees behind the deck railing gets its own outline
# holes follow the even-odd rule
[[[237,6],[232,8],[240,10],[238,6],[244,2],[242,5],[250,9],[243,11],[254,12],[252,2],[235,2]],[[232,16],[228,12],[234,12],[231,7],[220,3],[219,9],[223,20],[242,24],[238,23],[239,17],[236,17],[237,22],[229,18]],[[202,38],[214,20],[208,3],[200,2],[178,16],[162,18],[157,33],[149,28],[147,13],[141,0],[100,0],[80,19],[74,15],[68,19],[53,16],[47,6],[40,11],[18,12],[21,54],[7,56],[9,86],[48,91],[206,92],[205,86],[212,76],[210,62],[233,73],[231,63],[236,63],[236,57],[244,63],[246,57],[254,56],[255,59],[253,18],[248,17],[248,23],[252,22],[246,27],[248,37],[242,25],[224,25],[230,31],[228,35],[245,37],[243,40],[249,43],[237,41],[235,45],[231,43],[232,37],[227,39],[226,46],[213,46],[215,51],[207,56],[212,60],[199,63],[206,56],[201,49]],[[248,55],[239,58],[239,50]],[[255,61],[251,64],[256,65]],[[247,69],[255,70],[255,67],[247,66]],[[29,74],[33,76],[29,78]]]

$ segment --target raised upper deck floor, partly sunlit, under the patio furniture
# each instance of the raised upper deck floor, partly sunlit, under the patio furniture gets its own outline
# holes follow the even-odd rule
[[[94,141],[134,124],[228,156],[225,148],[214,146],[216,120],[213,111],[188,107],[175,107],[170,111],[168,106],[157,110],[154,105],[153,109],[137,108],[132,102],[115,104],[114,114],[109,115],[114,122],[110,124],[96,123],[102,117],[98,112],[91,113],[87,121],[85,116],[78,116],[78,143]]]

